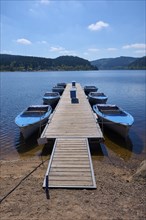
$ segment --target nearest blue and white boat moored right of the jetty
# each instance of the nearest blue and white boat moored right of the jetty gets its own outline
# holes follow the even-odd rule
[[[99,123],[109,127],[122,137],[126,138],[134,118],[120,107],[111,104],[96,104],[93,106]]]

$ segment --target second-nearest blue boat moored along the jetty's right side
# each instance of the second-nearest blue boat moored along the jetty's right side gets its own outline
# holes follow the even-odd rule
[[[88,99],[91,105],[94,104],[105,104],[108,97],[103,92],[90,92]]]

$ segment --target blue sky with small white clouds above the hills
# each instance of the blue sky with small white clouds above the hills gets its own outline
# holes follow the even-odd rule
[[[146,53],[145,0],[0,0],[1,53],[88,60]]]

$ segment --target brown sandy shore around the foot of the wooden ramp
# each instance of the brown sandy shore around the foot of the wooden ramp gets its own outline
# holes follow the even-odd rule
[[[47,200],[42,189],[45,162],[1,202],[1,220],[146,219],[146,181],[129,181],[140,161],[127,165],[112,152],[110,159],[92,159],[96,190],[51,189]],[[1,161],[1,198],[40,163],[39,157]]]

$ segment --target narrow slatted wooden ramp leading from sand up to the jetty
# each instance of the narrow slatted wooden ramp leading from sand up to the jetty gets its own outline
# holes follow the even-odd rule
[[[88,140],[56,139],[46,176],[49,188],[96,188]]]

